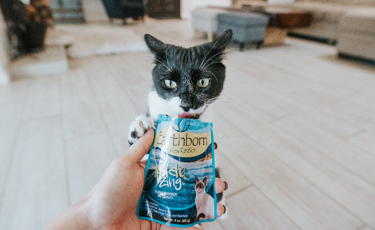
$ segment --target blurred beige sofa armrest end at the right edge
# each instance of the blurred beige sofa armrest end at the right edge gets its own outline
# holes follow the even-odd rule
[[[375,63],[375,9],[348,11],[341,19],[337,45],[340,56],[369,59]]]

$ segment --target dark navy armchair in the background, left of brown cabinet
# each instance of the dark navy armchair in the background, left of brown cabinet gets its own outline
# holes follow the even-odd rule
[[[110,18],[138,18],[145,15],[142,0],[102,0],[102,2]]]

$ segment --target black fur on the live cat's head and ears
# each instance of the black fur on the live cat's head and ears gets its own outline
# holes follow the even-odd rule
[[[180,107],[184,111],[189,111],[190,108],[195,110],[204,103],[211,103],[223,89],[225,66],[221,61],[232,34],[232,30],[226,30],[212,42],[190,48],[164,44],[146,34],[144,40],[155,58],[156,66],[152,77],[157,94],[166,100],[179,97]],[[208,86],[196,86],[196,82],[204,78],[210,79]],[[174,81],[177,87],[166,87],[164,80]],[[198,119],[199,115],[192,118]]]

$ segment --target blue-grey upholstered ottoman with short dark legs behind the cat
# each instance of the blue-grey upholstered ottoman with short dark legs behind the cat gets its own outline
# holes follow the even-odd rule
[[[228,12],[217,15],[217,34],[233,30],[233,41],[239,42],[241,49],[245,43],[256,42],[257,48],[263,44],[269,17],[261,14]]]

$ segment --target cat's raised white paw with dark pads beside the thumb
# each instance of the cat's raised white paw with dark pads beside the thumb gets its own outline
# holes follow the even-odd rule
[[[152,117],[139,115],[130,125],[128,140],[129,144],[133,144],[139,137],[147,132],[150,128],[155,128],[156,120]]]

